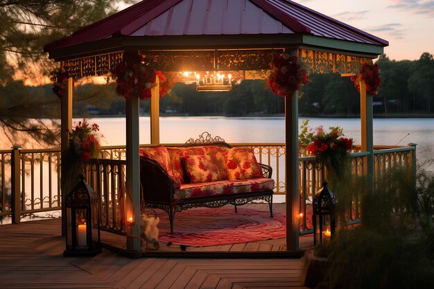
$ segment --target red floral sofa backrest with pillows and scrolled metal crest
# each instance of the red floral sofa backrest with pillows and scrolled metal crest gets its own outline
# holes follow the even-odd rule
[[[199,139],[189,139],[183,146],[141,148],[140,155],[155,159],[177,188],[191,182],[263,177],[251,149],[232,148],[224,139],[213,139],[207,132]]]

